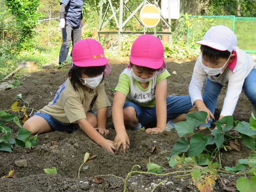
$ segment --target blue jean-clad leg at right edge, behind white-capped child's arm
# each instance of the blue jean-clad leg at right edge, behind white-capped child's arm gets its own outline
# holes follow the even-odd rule
[[[245,78],[243,90],[256,111],[256,69],[253,69]]]

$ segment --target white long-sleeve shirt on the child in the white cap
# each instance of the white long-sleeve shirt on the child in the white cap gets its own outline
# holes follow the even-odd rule
[[[193,105],[196,100],[203,100],[202,87],[206,77],[208,77],[209,80],[218,82],[222,84],[222,86],[228,88],[220,116],[228,116],[233,114],[239,95],[242,91],[244,80],[251,70],[256,68],[256,62],[254,62],[253,58],[246,52],[237,48],[236,54],[237,62],[234,70],[232,71],[227,67],[218,77],[206,74],[202,68],[202,56],[201,54],[198,56],[194,66],[192,80],[189,85],[189,94]]]

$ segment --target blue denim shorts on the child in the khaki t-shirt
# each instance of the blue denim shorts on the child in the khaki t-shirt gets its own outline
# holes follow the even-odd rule
[[[94,111],[90,110],[88,112],[93,113],[96,116]],[[61,132],[68,132],[68,133],[72,133],[76,130],[75,123],[68,123],[68,124],[62,123],[46,113],[34,112],[34,115],[38,115],[44,118],[44,120],[46,120],[54,130],[61,131]]]

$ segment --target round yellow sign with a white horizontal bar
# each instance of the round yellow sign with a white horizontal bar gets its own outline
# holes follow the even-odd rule
[[[140,10],[140,20],[146,27],[154,27],[160,21],[160,12],[157,6],[146,4]]]

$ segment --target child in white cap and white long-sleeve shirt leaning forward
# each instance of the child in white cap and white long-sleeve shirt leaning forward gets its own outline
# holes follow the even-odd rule
[[[228,89],[219,119],[233,114],[242,89],[256,110],[256,62],[236,47],[234,32],[226,26],[214,26],[206,32],[203,40],[196,43],[201,44],[201,54],[194,67],[189,94],[198,111],[208,112],[207,126],[210,127],[214,119],[218,95],[223,86]],[[205,127],[201,125],[200,129]]]

